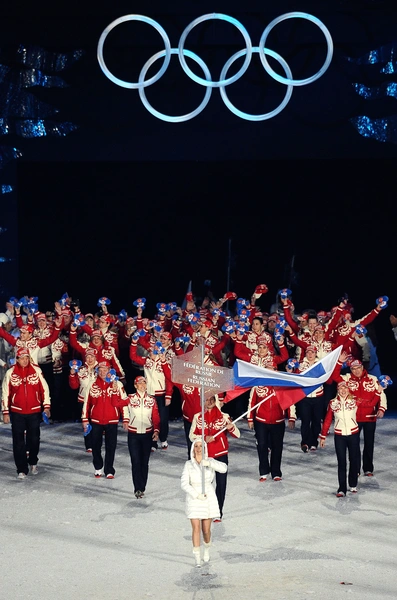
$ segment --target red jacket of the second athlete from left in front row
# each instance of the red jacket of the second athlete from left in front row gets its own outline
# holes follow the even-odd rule
[[[119,383],[119,382],[118,382]],[[120,420],[119,403],[127,397],[122,384],[114,389],[113,383],[108,383],[100,377],[90,387],[87,400],[83,405],[81,420],[98,425],[118,423]]]

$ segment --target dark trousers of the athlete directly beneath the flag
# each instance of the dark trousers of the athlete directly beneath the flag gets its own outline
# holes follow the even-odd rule
[[[283,454],[283,442],[285,433],[285,421],[270,425],[254,420],[255,437],[259,458],[259,475],[281,477],[281,457]],[[270,450],[270,462],[269,451]]]

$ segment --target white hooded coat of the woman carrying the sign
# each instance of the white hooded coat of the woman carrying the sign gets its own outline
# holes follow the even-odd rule
[[[195,440],[190,451],[190,460],[186,461],[181,477],[181,487],[186,492],[186,516],[188,519],[216,519],[220,517],[218,500],[212,482],[215,479],[215,471],[226,473],[225,463],[208,458],[207,445],[204,444],[203,458],[210,463],[209,467],[202,467],[193,457]],[[200,500],[202,469],[205,471],[205,500]]]

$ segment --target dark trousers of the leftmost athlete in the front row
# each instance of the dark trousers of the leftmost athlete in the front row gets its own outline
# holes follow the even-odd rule
[[[41,412],[30,415],[10,413],[12,449],[17,473],[29,473],[29,465],[37,465],[40,448]],[[26,431],[26,438],[25,438]],[[29,450],[29,458],[26,452]]]

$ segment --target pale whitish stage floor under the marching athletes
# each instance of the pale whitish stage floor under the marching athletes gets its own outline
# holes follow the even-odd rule
[[[397,419],[378,421],[375,477],[337,499],[333,436],[300,450],[286,430],[283,481],[258,481],[246,422],[231,439],[224,520],[211,562],[195,568],[180,475],[183,424],[152,453],[145,497],[133,495],[121,427],[113,481],[95,479],[80,424],[42,426],[40,473],[16,479],[11,429],[0,425],[4,600],[381,600],[397,598]]]

